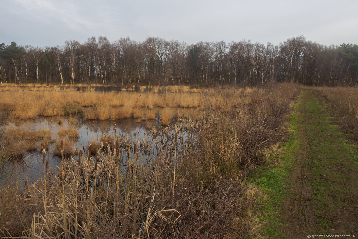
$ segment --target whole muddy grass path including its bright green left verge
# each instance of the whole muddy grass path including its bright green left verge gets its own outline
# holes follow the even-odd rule
[[[267,197],[261,235],[357,235],[357,145],[343,139],[313,92],[299,99],[286,153],[256,178]]]

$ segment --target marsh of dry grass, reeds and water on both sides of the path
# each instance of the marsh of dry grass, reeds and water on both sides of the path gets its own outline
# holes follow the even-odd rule
[[[24,89],[1,87],[2,237],[276,235],[261,172],[286,190],[297,85]],[[357,140],[357,88],[306,89]]]

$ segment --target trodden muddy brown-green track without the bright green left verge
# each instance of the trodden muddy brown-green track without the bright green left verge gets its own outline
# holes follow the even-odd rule
[[[313,92],[303,91],[296,112],[294,167],[280,229],[290,238],[357,235],[357,151]]]

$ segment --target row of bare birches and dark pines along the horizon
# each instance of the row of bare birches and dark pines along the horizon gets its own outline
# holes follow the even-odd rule
[[[91,37],[46,48],[1,43],[0,77],[1,83],[357,86],[357,67],[357,44],[324,46],[304,36],[278,46],[251,40],[189,45],[159,37],[111,43]]]

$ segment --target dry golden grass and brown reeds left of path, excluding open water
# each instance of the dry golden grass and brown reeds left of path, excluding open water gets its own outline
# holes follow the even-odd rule
[[[103,109],[99,104],[106,105],[103,112],[112,119],[121,117],[122,111],[114,109],[126,107],[130,116],[141,109],[147,119],[159,108],[155,114],[164,125],[176,115],[187,118],[173,130],[149,130],[150,141],[103,135],[96,161],[80,152],[62,160],[53,174],[44,168],[44,177],[34,183],[4,185],[1,236],[237,238],[258,233],[252,217],[258,191],[247,186],[246,177],[266,162],[269,145],[284,137],[283,124],[296,87],[285,83],[267,89],[202,91],[150,96],[119,92],[108,97],[93,92],[11,92],[18,94],[16,103],[7,99],[8,92],[1,92],[1,109],[14,117],[19,115],[16,105],[51,95],[59,105],[83,107],[79,98],[92,102],[83,110],[84,118],[91,108],[98,117]],[[31,107],[45,107],[37,104]],[[188,130],[185,139],[183,130]],[[59,144],[59,152],[67,148],[73,152],[66,142],[70,140]],[[147,154],[150,158],[140,154],[142,150],[153,150]]]

